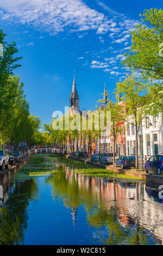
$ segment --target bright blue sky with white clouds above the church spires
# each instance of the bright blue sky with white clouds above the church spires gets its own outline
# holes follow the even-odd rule
[[[1,0],[0,28],[16,42],[30,112],[42,124],[55,110],[69,105],[73,73],[81,110],[93,110],[122,81],[123,53],[131,45],[129,32],[144,9],[161,8],[162,1]],[[138,74],[139,75],[139,74]]]

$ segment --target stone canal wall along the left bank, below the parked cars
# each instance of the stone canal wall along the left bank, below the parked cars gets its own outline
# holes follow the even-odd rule
[[[4,169],[3,171],[0,171],[0,185],[3,186],[5,183],[7,183],[18,170],[20,170],[25,164],[29,162],[30,158],[31,157],[24,158],[22,163],[17,163],[16,166],[12,166],[9,169]]]

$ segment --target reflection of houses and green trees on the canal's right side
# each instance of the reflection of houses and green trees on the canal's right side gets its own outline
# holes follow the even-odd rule
[[[89,225],[109,230],[107,238],[99,237],[102,243],[162,243],[163,209],[162,205],[154,204],[151,200],[154,195],[158,196],[158,191],[151,189],[150,197],[146,193],[148,183],[87,177],[66,167],[64,172],[57,172],[55,178],[47,177],[45,182],[52,183],[53,195],[61,194],[64,205],[72,209],[73,223],[77,208],[82,204]],[[130,199],[134,197],[135,200]]]

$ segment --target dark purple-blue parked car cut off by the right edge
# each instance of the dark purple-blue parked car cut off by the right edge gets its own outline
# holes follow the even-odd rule
[[[163,154],[155,154],[150,157],[145,164],[146,173],[156,171],[160,175],[163,171]]]

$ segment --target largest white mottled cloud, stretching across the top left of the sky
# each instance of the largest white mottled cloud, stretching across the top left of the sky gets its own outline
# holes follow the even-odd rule
[[[96,29],[99,34],[121,29],[82,0],[1,0],[0,9],[1,19],[30,25],[51,35],[66,27],[70,31]]]

